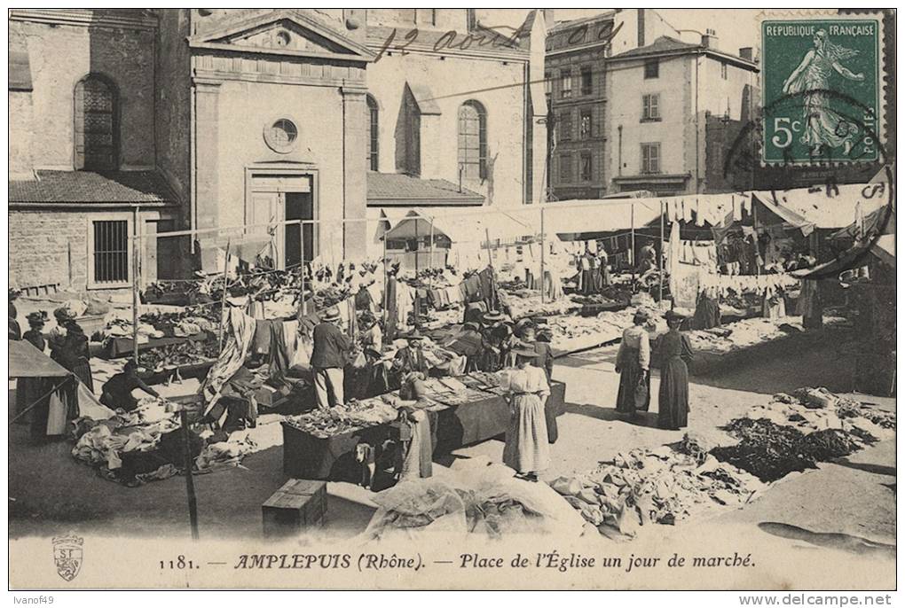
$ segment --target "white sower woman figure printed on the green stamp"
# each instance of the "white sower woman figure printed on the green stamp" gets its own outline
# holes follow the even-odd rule
[[[830,108],[830,75],[833,70],[848,80],[861,82],[863,74],[855,74],[840,61],[852,59],[858,51],[846,49],[829,41],[826,30],[814,34],[814,48],[783,83],[786,95],[804,93],[805,135],[802,143],[811,146],[812,154],[821,153],[824,145],[831,148],[843,146],[846,156],[852,152],[858,127],[849,119]]]

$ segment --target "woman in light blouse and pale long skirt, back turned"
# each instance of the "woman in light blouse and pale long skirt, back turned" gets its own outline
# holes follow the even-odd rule
[[[538,481],[538,472],[550,465],[550,444],[544,416],[550,388],[547,374],[531,362],[537,353],[528,348],[515,350],[516,369],[509,376],[510,424],[506,429],[503,463],[515,469],[517,477]]]

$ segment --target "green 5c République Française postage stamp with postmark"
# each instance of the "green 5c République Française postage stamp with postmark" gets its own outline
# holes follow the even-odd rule
[[[881,158],[881,19],[761,23],[765,164]]]

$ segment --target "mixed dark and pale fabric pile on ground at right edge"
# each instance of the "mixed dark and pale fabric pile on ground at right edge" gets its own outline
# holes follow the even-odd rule
[[[895,415],[841,397],[826,388],[798,388],[777,393],[767,406],[754,407],[732,420],[729,435],[738,444],[710,454],[774,482],[790,472],[847,456],[881,439],[895,436]]]

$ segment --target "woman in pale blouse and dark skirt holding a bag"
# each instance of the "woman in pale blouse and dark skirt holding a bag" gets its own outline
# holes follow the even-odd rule
[[[634,313],[632,327],[623,332],[619,352],[616,355],[616,373],[619,374],[619,394],[616,410],[623,414],[646,412],[651,405],[651,339],[644,329],[650,317],[644,311]],[[643,387],[644,398],[636,400],[639,385]]]

